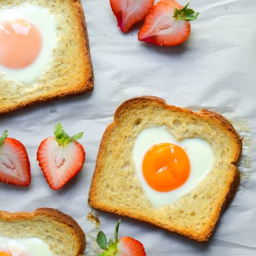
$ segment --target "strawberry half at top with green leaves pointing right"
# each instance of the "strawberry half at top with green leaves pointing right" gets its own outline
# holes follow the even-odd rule
[[[148,13],[138,34],[140,41],[160,46],[175,46],[188,39],[189,20],[195,20],[199,13],[182,7],[174,0],[159,1]]]

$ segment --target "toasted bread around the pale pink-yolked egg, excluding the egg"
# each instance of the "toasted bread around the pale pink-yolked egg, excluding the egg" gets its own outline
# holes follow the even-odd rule
[[[31,85],[0,69],[0,114],[94,88],[89,42],[80,0],[1,1],[0,11],[27,4],[46,8],[56,20],[56,43],[44,72]],[[29,74],[27,74],[29,76]]]

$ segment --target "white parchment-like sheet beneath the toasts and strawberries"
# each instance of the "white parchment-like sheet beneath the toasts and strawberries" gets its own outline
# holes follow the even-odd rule
[[[79,222],[88,235],[87,250],[91,251],[97,229],[87,220],[92,210],[87,199],[101,135],[122,101],[155,95],[172,105],[195,110],[209,108],[235,120],[249,141],[243,169],[247,175],[209,243],[192,242],[128,218],[122,218],[120,236],[141,241],[148,256],[255,256],[256,152],[254,147],[249,151],[256,137],[256,1],[191,1],[191,8],[200,12],[198,20],[191,22],[189,40],[171,48],[139,42],[137,32],[141,24],[122,34],[108,0],[81,2],[88,26],[95,89],[86,95],[0,117],[0,131],[7,128],[9,136],[27,147],[32,172],[29,188],[0,184],[0,209],[59,209]],[[180,0],[182,5],[186,2]],[[58,121],[69,134],[85,132],[80,141],[86,150],[86,162],[79,175],[55,192],[38,167],[36,152],[40,141],[53,135]],[[100,228],[108,237],[113,236],[119,217],[98,214]]]

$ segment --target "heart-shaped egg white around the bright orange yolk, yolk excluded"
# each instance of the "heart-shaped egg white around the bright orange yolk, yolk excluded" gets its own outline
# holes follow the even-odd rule
[[[185,150],[190,162],[190,175],[188,180],[178,189],[169,192],[158,192],[152,189],[145,181],[142,173],[144,155],[153,145],[160,142],[174,143]],[[141,131],[135,140],[133,159],[136,172],[142,189],[155,208],[161,208],[179,200],[183,195],[194,189],[209,173],[214,162],[213,152],[207,141],[200,138],[189,138],[177,141],[164,126],[146,128]]]

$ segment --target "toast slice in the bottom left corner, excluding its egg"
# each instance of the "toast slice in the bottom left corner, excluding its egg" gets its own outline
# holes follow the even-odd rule
[[[54,256],[81,256],[86,245],[78,223],[52,208],[39,208],[32,213],[0,211],[0,236],[39,238]]]

